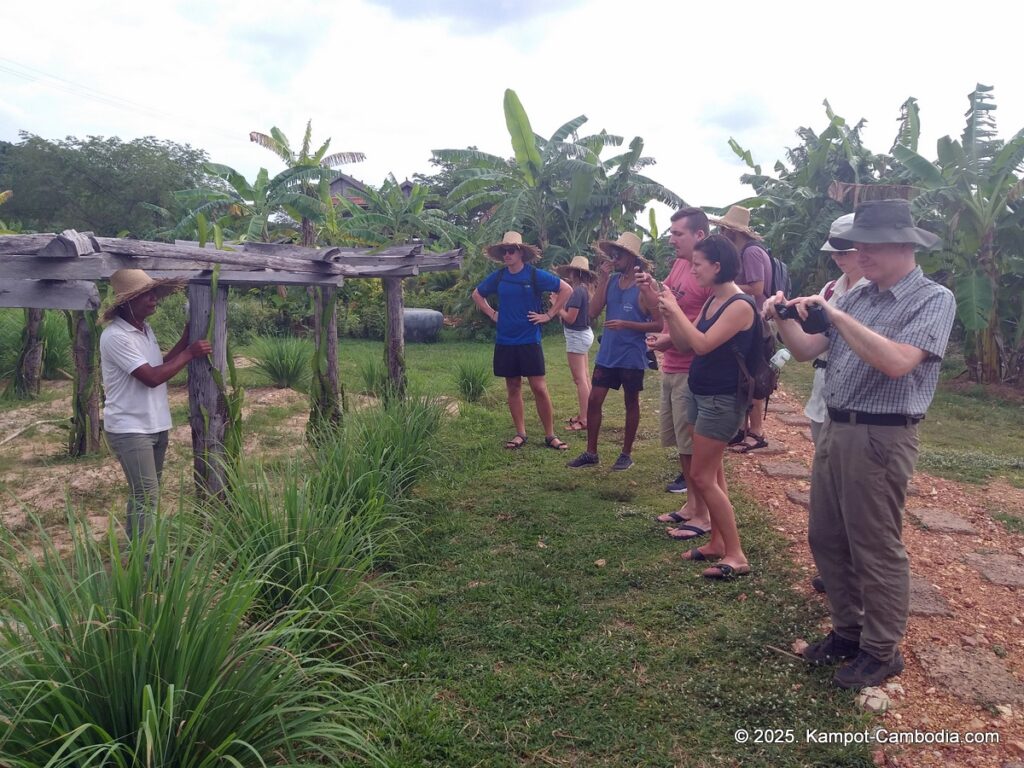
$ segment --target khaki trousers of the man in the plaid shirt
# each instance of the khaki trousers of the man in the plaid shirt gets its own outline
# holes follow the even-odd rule
[[[825,583],[833,629],[888,662],[906,631],[910,564],[903,505],[918,426],[835,424],[825,418],[811,472],[808,541]]]

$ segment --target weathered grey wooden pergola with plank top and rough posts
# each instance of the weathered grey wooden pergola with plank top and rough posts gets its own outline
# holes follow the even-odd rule
[[[328,421],[340,419],[338,381],[338,325],[334,311],[337,289],[346,279],[378,279],[384,283],[385,345],[388,376],[398,393],[404,392],[404,301],[402,279],[421,272],[460,268],[462,251],[424,253],[422,246],[403,245],[381,250],[302,248],[292,245],[246,243],[232,250],[198,245],[155,243],[121,238],[96,238],[91,232],[67,230],[60,234],[0,236],[0,307],[67,309],[74,318],[76,413],[88,414],[84,444],[99,444],[98,330],[100,305],[97,281],[118,269],[144,269],[154,278],[188,282],[189,341],[205,338],[212,322],[213,353],[188,366],[189,424],[194,466],[201,494],[224,489],[224,439],[228,408],[222,382],[227,380],[227,288],[243,286],[311,287],[315,312],[316,358],[326,359],[325,387]],[[217,270],[216,291],[212,290]],[[313,403],[313,409],[317,403]],[[333,417],[333,418],[332,418]]]

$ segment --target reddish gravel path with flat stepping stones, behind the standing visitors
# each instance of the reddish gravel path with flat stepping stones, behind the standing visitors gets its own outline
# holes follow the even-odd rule
[[[802,402],[780,393],[766,421],[769,451],[728,461],[790,541],[802,573],[797,589],[823,601],[809,583],[815,572],[804,506],[810,483],[772,476],[809,470],[813,445],[802,420]],[[876,753],[876,763],[1024,766],[1024,536],[992,517],[1024,517],[1024,489],[1002,480],[967,485],[916,473],[910,490],[903,537],[913,579],[902,646],[906,670],[891,681],[889,710],[878,722],[901,732],[994,732],[999,743],[889,745]]]

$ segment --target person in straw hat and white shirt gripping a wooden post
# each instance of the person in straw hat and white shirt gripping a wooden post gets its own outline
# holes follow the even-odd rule
[[[126,528],[136,541],[152,521],[160,495],[160,475],[167,453],[171,409],[167,382],[197,357],[211,351],[205,339],[188,343],[188,326],[166,354],[145,322],[179,281],[154,280],[141,269],[119,269],[111,275],[114,300],[102,313],[109,323],[99,337],[99,359],[105,396],[103,432],[128,478]]]

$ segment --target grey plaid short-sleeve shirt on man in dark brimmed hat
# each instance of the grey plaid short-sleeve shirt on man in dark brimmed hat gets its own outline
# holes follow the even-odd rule
[[[919,266],[887,291],[868,283],[848,293],[837,306],[877,334],[923,349],[928,356],[906,376],[891,379],[860,359],[833,329],[825,404],[842,411],[924,417],[935,395],[953,326],[953,295],[926,278]]]

